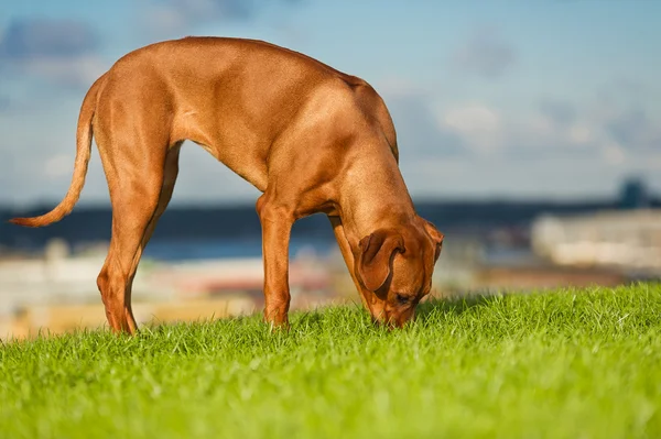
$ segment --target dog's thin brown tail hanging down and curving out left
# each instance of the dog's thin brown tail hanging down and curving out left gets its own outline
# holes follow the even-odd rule
[[[80,114],[78,116],[78,129],[76,131],[76,162],[74,163],[74,176],[69,185],[68,191],[64,199],[47,213],[32,218],[13,218],[9,220],[14,224],[25,227],[43,227],[50,223],[59,221],[65,216],[69,215],[74,209],[74,205],[80,197],[83,186],[85,186],[85,176],[87,175],[87,164],[91,153],[91,136],[93,128],[91,120],[96,110],[97,95],[105,83],[106,75],[101,76],[94,83],[87,91]]]

